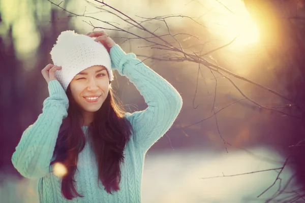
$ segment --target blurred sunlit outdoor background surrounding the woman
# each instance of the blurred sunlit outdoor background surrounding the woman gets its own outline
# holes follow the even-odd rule
[[[11,157],[48,96],[41,70],[52,63],[57,36],[93,27],[106,29],[184,100],[146,155],[143,202],[305,202],[304,0],[105,3],[121,13],[98,1],[0,0],[0,202],[38,202],[36,180],[23,179]],[[156,37],[122,14],[161,36],[161,45],[198,58],[147,42]],[[113,88],[128,111],[146,107],[126,78],[116,74]]]

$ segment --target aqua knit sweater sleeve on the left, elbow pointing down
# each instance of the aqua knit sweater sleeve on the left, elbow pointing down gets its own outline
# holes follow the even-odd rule
[[[49,172],[59,127],[68,115],[69,100],[63,87],[52,80],[48,90],[42,113],[24,130],[12,156],[14,167],[25,178],[41,178]]]

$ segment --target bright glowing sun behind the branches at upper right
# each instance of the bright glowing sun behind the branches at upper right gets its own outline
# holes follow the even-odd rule
[[[241,0],[205,1],[210,11],[204,16],[209,30],[232,45],[247,46],[258,42],[259,31]]]

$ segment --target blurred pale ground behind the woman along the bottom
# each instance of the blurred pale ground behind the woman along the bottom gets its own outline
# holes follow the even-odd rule
[[[276,180],[279,171],[202,179],[277,168],[285,160],[263,147],[248,149],[248,152],[228,149],[228,152],[183,149],[148,152],[142,180],[142,202],[264,202],[279,189],[278,181],[256,198]],[[282,173],[285,183],[292,171],[285,167]],[[39,202],[36,183],[36,180],[7,176],[0,189],[1,202]]]

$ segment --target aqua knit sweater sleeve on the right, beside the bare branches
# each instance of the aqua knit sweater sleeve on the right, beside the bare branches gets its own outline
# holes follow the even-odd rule
[[[133,141],[146,152],[173,124],[182,107],[181,96],[135,54],[126,54],[115,45],[110,50],[110,57],[113,69],[136,86],[148,106],[144,111],[126,114],[134,129]]]

